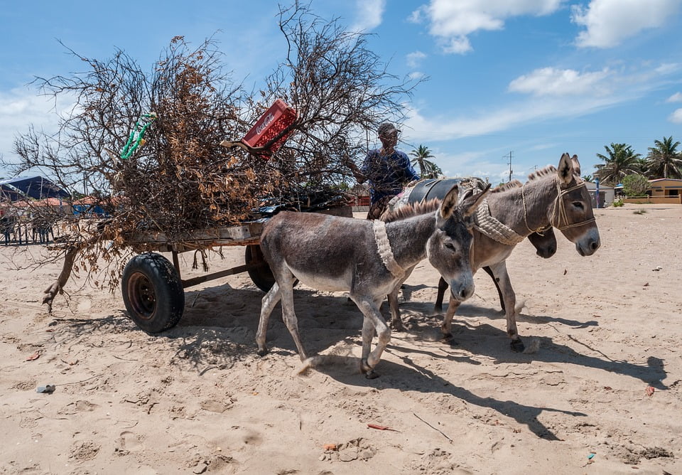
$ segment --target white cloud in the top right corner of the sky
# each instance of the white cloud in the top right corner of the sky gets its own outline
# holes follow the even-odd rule
[[[646,28],[656,28],[674,16],[682,0],[592,0],[585,8],[571,6],[571,19],[585,31],[578,46],[611,48]]]

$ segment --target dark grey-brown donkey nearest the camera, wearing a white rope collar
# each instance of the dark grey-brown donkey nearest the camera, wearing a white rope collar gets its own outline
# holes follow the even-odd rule
[[[267,353],[268,321],[281,299],[283,320],[298,355],[301,361],[308,358],[293,309],[293,284],[298,279],[315,289],[350,292],[364,315],[360,370],[367,378],[376,378],[374,368],[391,339],[379,307],[401,282],[405,269],[428,257],[448,280],[454,301],[465,301],[473,294],[471,215],[488,191],[489,187],[460,198],[458,187],[453,186],[442,202],[411,207],[401,219],[389,223],[318,213],[275,215],[261,234],[261,250],[276,282],[262,300],[256,332],[259,355]],[[374,331],[379,338],[370,351]]]

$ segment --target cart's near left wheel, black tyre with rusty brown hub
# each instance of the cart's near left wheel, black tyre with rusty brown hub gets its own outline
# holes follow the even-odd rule
[[[130,318],[148,333],[171,329],[183,316],[183,284],[173,264],[160,254],[133,257],[123,270],[121,290]]]

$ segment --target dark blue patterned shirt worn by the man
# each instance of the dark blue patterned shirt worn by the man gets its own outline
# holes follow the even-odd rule
[[[369,200],[377,203],[384,196],[396,196],[407,183],[418,180],[407,154],[394,151],[383,156],[379,150],[372,150],[364,159],[360,171],[369,181]]]

